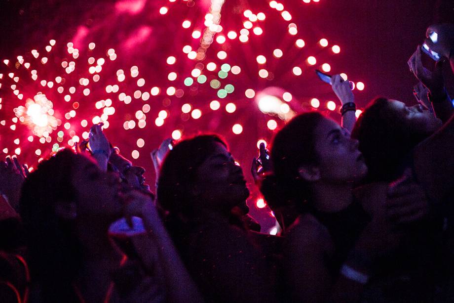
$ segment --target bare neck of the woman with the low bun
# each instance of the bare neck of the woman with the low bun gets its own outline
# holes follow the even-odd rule
[[[312,186],[314,206],[322,212],[334,213],[343,210],[353,201],[352,184],[316,182]]]

